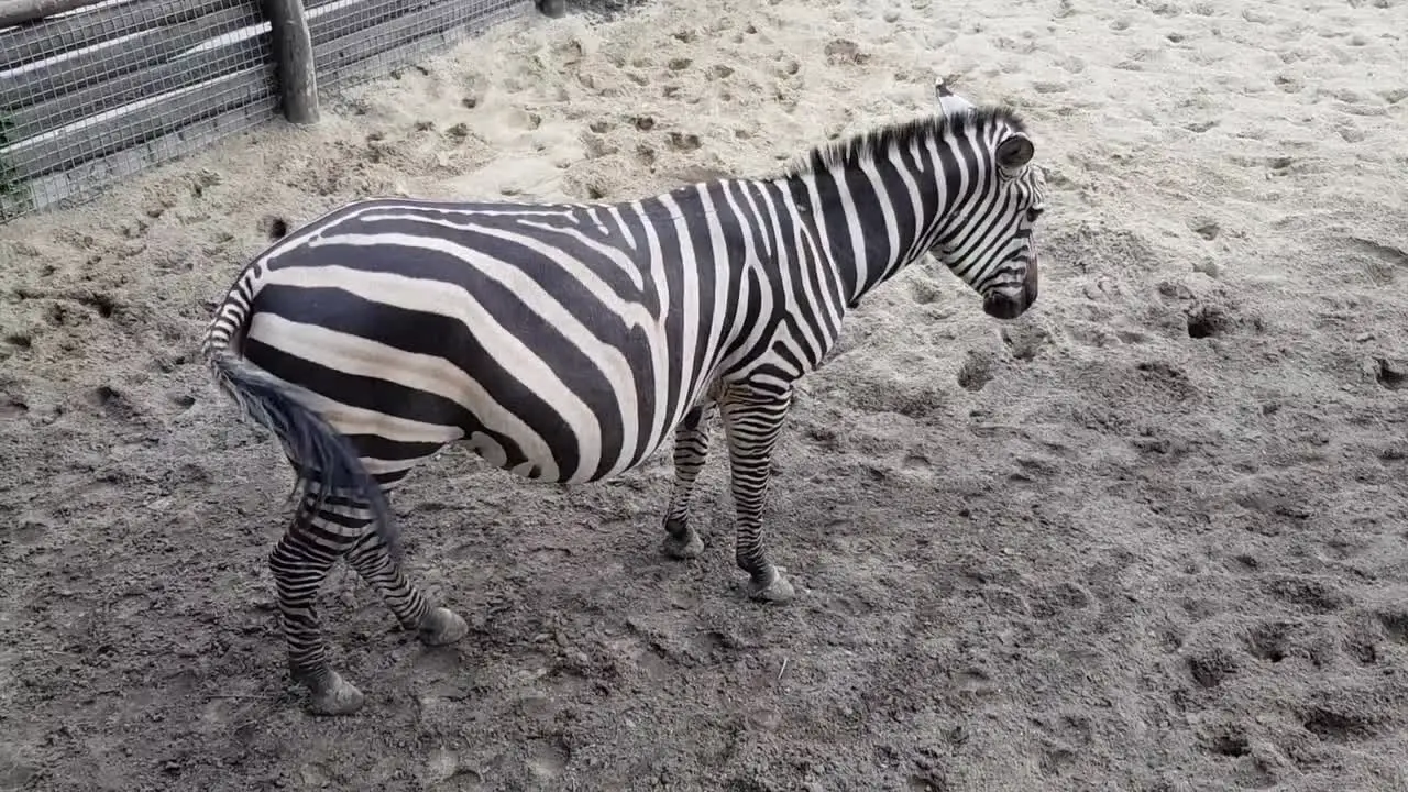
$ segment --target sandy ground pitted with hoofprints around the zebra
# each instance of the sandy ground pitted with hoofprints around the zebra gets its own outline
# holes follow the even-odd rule
[[[658,0],[532,18],[90,206],[0,228],[0,789],[1408,789],[1408,3]],[[276,445],[210,302],[353,196],[628,199],[928,111],[1021,109],[1036,309],[915,268],[805,382],[787,607],[656,552],[670,471],[446,452],[397,496],[470,621],[328,581],[367,692],[306,716]]]

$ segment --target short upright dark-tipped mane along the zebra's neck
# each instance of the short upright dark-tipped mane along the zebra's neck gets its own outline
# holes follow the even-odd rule
[[[910,121],[898,121],[866,130],[849,138],[818,145],[794,161],[787,168],[784,176],[845,171],[856,168],[863,162],[874,162],[877,155],[884,155],[894,148],[908,148],[912,142],[925,144],[938,140],[950,128],[956,134],[963,134],[994,124],[1004,124],[1014,131],[1026,130],[1021,116],[1005,104],[974,107],[953,114],[938,113],[935,116],[924,116]]]

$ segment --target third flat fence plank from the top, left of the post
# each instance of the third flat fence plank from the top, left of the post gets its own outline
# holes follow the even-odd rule
[[[269,34],[222,44],[159,66],[130,72],[117,79],[94,83],[41,104],[31,104],[10,116],[4,132],[18,142],[59,127],[82,121],[139,99],[190,87],[269,59]]]

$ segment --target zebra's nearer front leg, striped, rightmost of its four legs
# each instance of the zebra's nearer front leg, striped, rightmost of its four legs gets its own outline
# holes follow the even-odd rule
[[[734,555],[750,578],[748,595],[765,602],[787,602],[796,593],[783,576],[784,569],[767,559],[762,536],[773,447],[790,406],[790,389],[770,393],[746,385],[729,386],[721,403],[738,520]]]

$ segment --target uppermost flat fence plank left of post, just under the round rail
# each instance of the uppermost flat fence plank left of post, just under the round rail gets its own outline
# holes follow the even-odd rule
[[[246,1],[135,0],[0,31],[0,52],[4,52],[4,68],[13,69],[21,63],[42,61],[148,28],[175,25],[225,8],[245,7]]]

